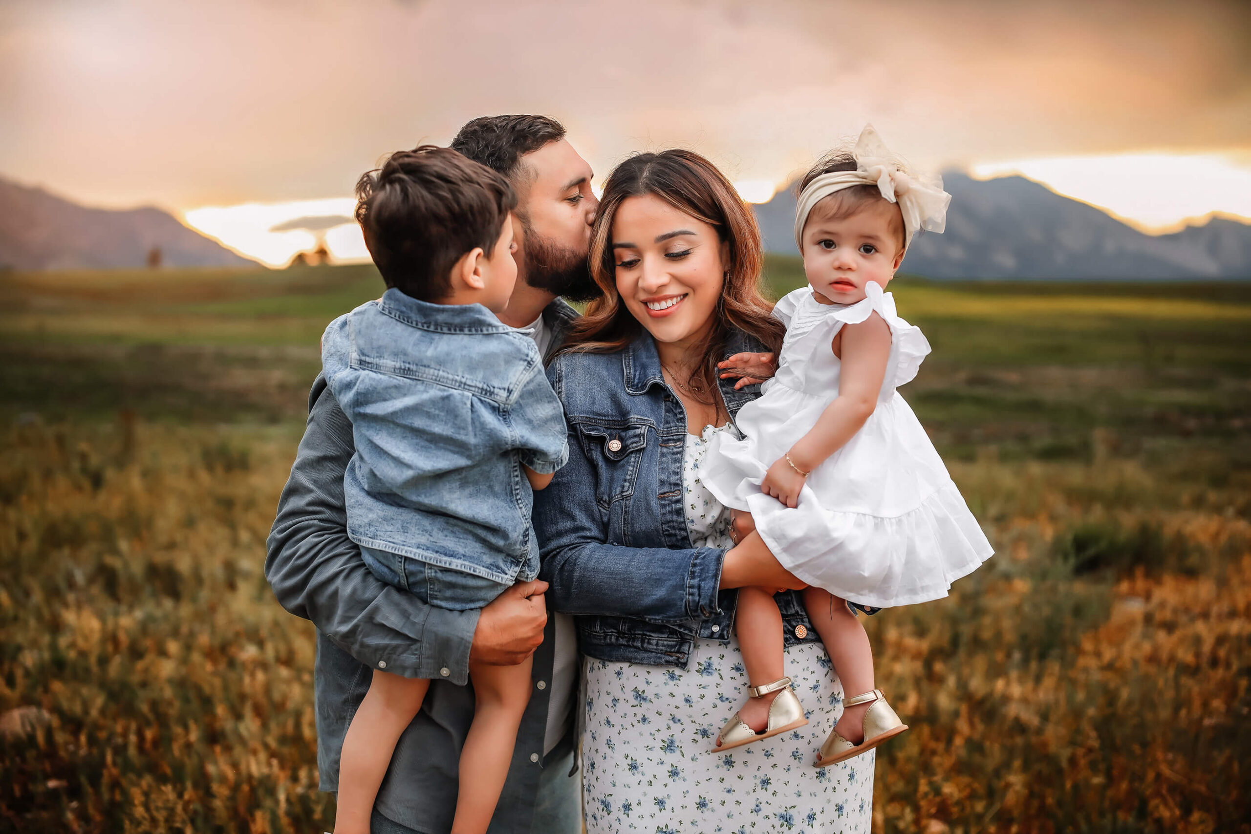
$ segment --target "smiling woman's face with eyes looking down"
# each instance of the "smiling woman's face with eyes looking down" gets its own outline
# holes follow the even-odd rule
[[[657,341],[694,341],[712,325],[728,246],[707,223],[657,196],[632,196],[613,218],[622,301]]]

